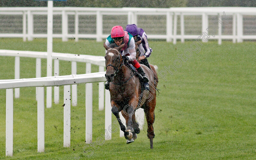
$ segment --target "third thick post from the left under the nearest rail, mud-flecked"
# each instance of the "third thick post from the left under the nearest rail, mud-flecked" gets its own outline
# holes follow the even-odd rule
[[[64,86],[63,147],[70,147],[70,85]]]

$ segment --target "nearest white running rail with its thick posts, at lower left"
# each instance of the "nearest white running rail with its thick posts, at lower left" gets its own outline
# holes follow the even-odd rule
[[[5,80],[0,82],[0,89],[6,89],[6,156],[12,156],[13,151],[13,88],[37,88],[37,151],[44,152],[44,87],[64,85],[64,135],[63,146],[70,147],[70,85],[86,83],[86,143],[92,142],[92,82],[104,82],[105,72],[83,75],[58,77],[43,77],[20,80]],[[105,125],[111,125],[110,96],[106,93]],[[108,129],[108,128],[106,128]],[[111,139],[111,133],[108,140]]]

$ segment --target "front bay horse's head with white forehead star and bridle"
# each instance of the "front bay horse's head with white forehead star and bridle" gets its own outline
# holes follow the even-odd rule
[[[122,55],[119,52],[121,48],[124,47],[125,44],[122,44],[118,47],[111,48],[108,47],[105,42],[103,46],[107,50],[107,53],[105,55],[105,65],[106,65],[106,74],[105,77],[107,81],[112,82],[114,79],[114,76],[119,71],[120,67],[123,64]]]

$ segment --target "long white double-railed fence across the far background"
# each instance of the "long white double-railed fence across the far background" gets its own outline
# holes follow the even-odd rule
[[[81,8],[54,7],[53,37],[62,38],[106,38],[112,26],[135,23],[143,28],[148,38],[197,39],[208,33],[212,21],[225,12],[228,23],[220,24],[210,39],[223,39],[235,43],[243,39],[256,39],[256,8],[254,7],[190,7],[190,8]],[[47,37],[47,7],[8,7],[0,9],[0,37]],[[2,30],[2,31],[1,31]],[[211,33],[209,33],[211,34]]]

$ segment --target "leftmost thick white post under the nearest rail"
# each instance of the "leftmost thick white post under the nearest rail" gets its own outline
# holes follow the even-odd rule
[[[5,155],[13,152],[13,89],[6,89]]]

